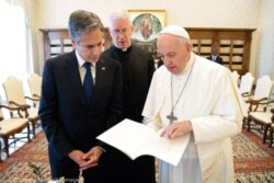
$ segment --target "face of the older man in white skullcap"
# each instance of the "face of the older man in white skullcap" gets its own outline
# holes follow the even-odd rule
[[[180,75],[190,59],[192,45],[178,36],[161,34],[158,37],[157,52],[167,69],[173,75]]]

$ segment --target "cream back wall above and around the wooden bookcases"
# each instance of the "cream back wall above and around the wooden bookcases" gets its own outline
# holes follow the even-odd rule
[[[261,24],[267,24],[266,22],[271,21],[271,15],[273,15],[270,9],[273,7],[274,1],[266,0],[267,2],[263,3],[263,11],[269,11],[269,19],[261,21],[261,19],[266,16],[261,13],[262,2],[264,1],[265,0],[36,0],[36,30],[67,27],[69,14],[78,9],[96,13],[103,24],[109,26],[109,14],[117,8],[127,10],[165,10],[167,24],[180,24],[184,27],[256,28],[258,31],[253,33],[250,57],[250,71],[256,77],[259,76],[258,70],[261,70],[261,68],[258,69],[258,67],[264,65],[262,61],[266,60],[260,57],[261,35],[264,33],[264,31],[262,33],[260,32],[260,26]],[[38,35],[38,60],[42,70],[44,61],[42,33],[38,31],[36,33]],[[262,59],[262,61],[260,59]],[[269,72],[273,72],[273,70],[272,67],[272,70]],[[265,69],[260,71],[260,75],[264,71]],[[274,79],[274,77],[272,78]]]

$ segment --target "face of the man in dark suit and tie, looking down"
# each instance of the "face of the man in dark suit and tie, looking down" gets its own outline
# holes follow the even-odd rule
[[[72,45],[78,54],[89,62],[96,62],[103,50],[103,33],[100,28],[90,31],[80,36],[80,42],[72,39]]]

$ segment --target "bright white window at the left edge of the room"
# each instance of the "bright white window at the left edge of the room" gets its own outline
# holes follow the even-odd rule
[[[31,43],[27,42],[30,32],[23,8],[0,0],[0,22],[1,85],[9,76],[24,81],[32,71],[32,61],[30,61],[30,49],[27,48],[27,43]],[[2,87],[0,94],[2,98],[4,96]]]

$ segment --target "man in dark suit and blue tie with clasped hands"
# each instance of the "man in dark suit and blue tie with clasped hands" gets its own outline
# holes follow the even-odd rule
[[[107,146],[95,137],[121,118],[123,79],[121,65],[101,57],[102,30],[98,15],[71,13],[69,34],[75,50],[45,62],[39,117],[53,179],[75,182],[80,170],[84,182],[110,182]]]

